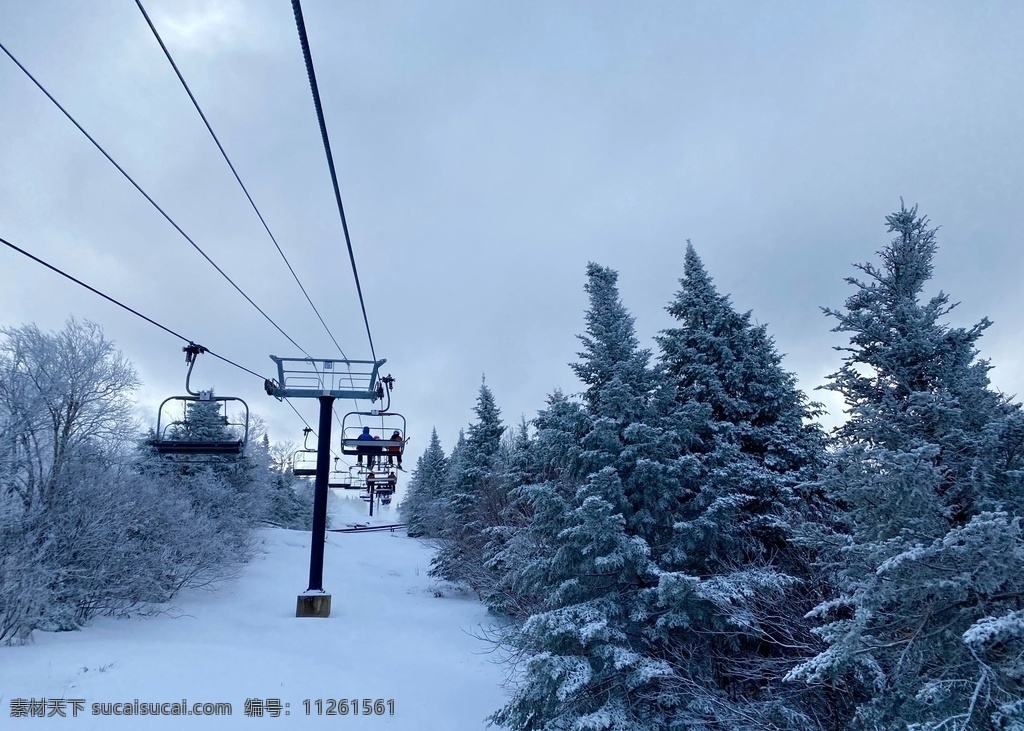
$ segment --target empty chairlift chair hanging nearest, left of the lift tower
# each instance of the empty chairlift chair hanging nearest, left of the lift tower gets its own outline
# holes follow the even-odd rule
[[[215,396],[213,390],[194,391],[190,387],[196,358],[206,352],[202,345],[182,348],[188,373],[187,396],[165,398],[157,412],[157,430],[151,445],[161,455],[240,455],[249,440],[249,405],[237,396]],[[242,405],[244,416],[228,416],[229,402]],[[181,405],[181,418],[174,419],[171,405]],[[223,410],[223,413],[221,412]],[[165,415],[167,419],[165,419]]]

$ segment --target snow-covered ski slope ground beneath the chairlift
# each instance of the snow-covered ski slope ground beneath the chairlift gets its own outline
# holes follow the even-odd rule
[[[335,514],[334,525],[371,520],[354,510],[347,517]],[[394,519],[388,510],[376,520]],[[463,731],[484,728],[484,718],[503,704],[506,670],[477,639],[493,617],[428,578],[431,554],[419,542],[402,530],[328,533],[324,587],[332,595],[331,616],[300,619],[295,603],[307,585],[309,533],[267,528],[260,536],[263,552],[237,582],[182,594],[165,614],[99,619],[81,632],[36,633],[32,645],[0,647],[0,729]],[[365,698],[371,711],[383,700],[376,704],[383,715],[365,715]],[[230,703],[231,711],[94,715],[93,704],[102,711],[99,704],[136,699],[184,700],[188,709]],[[77,718],[73,700],[82,701]],[[348,705],[344,716],[341,700]],[[260,705],[262,718],[255,716]],[[40,709],[62,709],[67,718],[33,716]],[[23,711],[27,717],[11,716]]]

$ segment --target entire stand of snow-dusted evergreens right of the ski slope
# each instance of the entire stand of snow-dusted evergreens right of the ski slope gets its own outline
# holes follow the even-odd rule
[[[831,433],[765,326],[687,245],[641,348],[587,267],[584,391],[509,428],[486,384],[402,504],[432,574],[502,618],[522,731],[1024,729],[1024,415],[926,298],[916,208],[825,309],[849,344]]]

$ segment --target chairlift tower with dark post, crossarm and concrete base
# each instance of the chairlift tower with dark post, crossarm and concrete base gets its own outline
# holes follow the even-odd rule
[[[281,358],[278,380],[267,380],[266,392],[275,398],[315,398],[319,401],[319,431],[316,438],[316,481],[313,487],[313,525],[309,547],[309,587],[296,602],[296,616],[331,615],[331,595],[324,591],[324,544],[327,541],[327,496],[331,474],[331,416],[334,399],[383,399],[393,379],[380,378],[386,360],[336,358]]]

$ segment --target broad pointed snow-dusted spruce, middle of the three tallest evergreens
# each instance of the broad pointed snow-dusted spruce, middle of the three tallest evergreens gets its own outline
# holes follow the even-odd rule
[[[811,639],[800,619],[810,562],[794,531],[807,510],[798,485],[822,456],[814,404],[689,242],[680,285],[668,307],[679,325],[657,338],[674,396],[666,422],[683,447],[651,608],[656,654],[673,669],[660,698],[686,728],[810,729],[811,709],[779,686]]]

